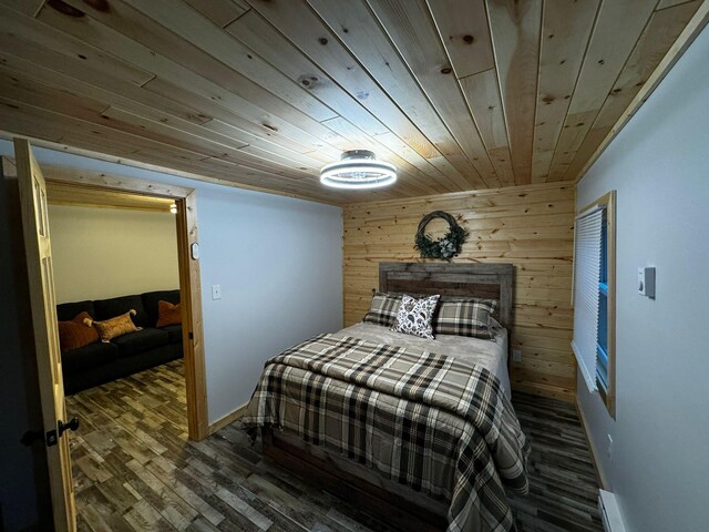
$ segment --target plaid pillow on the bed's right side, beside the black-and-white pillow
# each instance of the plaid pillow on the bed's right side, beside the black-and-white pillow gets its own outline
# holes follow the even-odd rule
[[[452,299],[441,301],[433,318],[436,335],[470,336],[492,340],[491,318],[496,299]]]

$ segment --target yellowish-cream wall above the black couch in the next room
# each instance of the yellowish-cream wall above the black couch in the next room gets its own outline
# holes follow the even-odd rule
[[[179,287],[175,215],[50,205],[59,303]]]

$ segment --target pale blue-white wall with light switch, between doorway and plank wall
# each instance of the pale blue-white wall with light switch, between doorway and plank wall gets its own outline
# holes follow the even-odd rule
[[[342,327],[342,209],[34,149],[40,165],[197,191],[209,421],[250,398],[266,359]],[[0,140],[0,154],[12,144]],[[212,285],[222,299],[212,300]]]

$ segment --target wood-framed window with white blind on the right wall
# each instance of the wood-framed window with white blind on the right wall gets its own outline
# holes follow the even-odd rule
[[[586,386],[615,417],[615,191],[576,216],[574,340]]]

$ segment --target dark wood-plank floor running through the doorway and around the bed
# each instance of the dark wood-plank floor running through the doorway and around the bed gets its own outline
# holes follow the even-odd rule
[[[511,495],[521,531],[602,531],[598,487],[573,406],[518,395],[532,489]],[[392,532],[260,459],[227,426],[187,441],[182,361],[66,398],[80,531]]]

